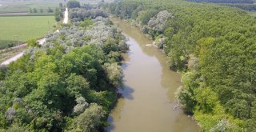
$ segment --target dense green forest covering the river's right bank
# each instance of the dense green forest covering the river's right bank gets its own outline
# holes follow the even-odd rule
[[[202,130],[256,130],[255,18],[186,1],[126,0],[102,8],[129,19],[164,51],[170,69],[182,73],[182,108]]]

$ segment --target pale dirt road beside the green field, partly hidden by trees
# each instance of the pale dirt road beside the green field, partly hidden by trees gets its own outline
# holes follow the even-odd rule
[[[69,16],[69,14],[68,14],[68,9],[66,8],[65,13],[64,13],[64,20],[63,20],[63,23],[64,23],[64,24],[67,24],[67,22],[69,21],[69,17],[68,17],[68,16]],[[56,31],[54,32],[54,34],[55,34],[55,33],[58,33],[58,32],[59,32],[59,30],[56,30]],[[46,42],[46,38],[39,39],[38,42],[39,42],[40,45],[42,45],[43,43]],[[26,45],[27,45],[27,43],[23,43],[23,44],[21,44],[21,45],[19,45],[19,46],[11,47],[9,50],[15,50],[15,49],[19,49],[19,48],[24,48],[24,47],[26,47]],[[4,51],[5,51],[5,50],[0,50],[0,53],[1,53],[1,52],[4,52]],[[21,58],[24,53],[25,53],[25,52],[22,51],[21,53],[16,54],[16,55],[14,55],[14,56],[11,57],[11,58],[6,59],[6,61],[2,62],[2,63],[0,64],[0,66],[8,65],[8,64],[10,64],[10,62],[16,61],[18,58]]]

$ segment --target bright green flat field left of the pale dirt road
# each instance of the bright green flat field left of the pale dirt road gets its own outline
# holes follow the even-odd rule
[[[54,23],[54,16],[0,17],[0,49],[42,38],[53,29]]]

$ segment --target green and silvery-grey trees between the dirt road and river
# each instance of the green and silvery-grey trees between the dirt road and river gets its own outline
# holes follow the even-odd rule
[[[85,15],[86,14],[86,15]],[[101,10],[70,9],[72,24],[30,40],[0,70],[0,131],[98,131],[122,86],[126,39]]]

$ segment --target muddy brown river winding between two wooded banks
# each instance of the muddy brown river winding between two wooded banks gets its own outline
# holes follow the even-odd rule
[[[111,112],[107,131],[198,132],[199,127],[182,110],[173,110],[181,75],[169,70],[166,56],[129,22],[112,18],[128,38],[130,51],[122,64],[123,98]]]

